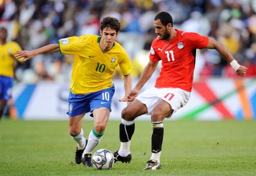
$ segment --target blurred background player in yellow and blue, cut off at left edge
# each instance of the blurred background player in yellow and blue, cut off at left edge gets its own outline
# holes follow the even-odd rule
[[[0,118],[3,116],[3,108],[11,98],[11,88],[14,77],[14,53],[21,50],[18,43],[6,42],[7,30],[0,28]]]

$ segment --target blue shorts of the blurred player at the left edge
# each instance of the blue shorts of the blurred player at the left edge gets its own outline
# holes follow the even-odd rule
[[[9,100],[12,98],[11,90],[13,84],[13,77],[5,77],[0,75],[0,99]]]

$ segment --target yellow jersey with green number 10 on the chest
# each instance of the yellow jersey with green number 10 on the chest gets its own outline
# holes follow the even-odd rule
[[[117,42],[108,52],[100,48],[100,36],[83,35],[59,40],[62,54],[75,55],[70,91],[93,93],[113,86],[112,75],[117,65],[122,74],[131,73],[131,62],[125,49]]]

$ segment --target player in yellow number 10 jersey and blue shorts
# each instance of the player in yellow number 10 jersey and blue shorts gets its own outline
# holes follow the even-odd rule
[[[77,164],[83,162],[85,167],[92,167],[91,152],[100,142],[109,119],[115,92],[111,78],[117,65],[124,75],[125,97],[131,90],[131,63],[125,49],[115,42],[119,29],[118,19],[106,17],[100,23],[100,36],[68,37],[60,39],[59,44],[16,52],[16,59],[25,57],[25,60],[46,52],[75,55],[67,114],[69,133],[77,142],[75,161]],[[128,100],[123,98],[120,101]],[[87,112],[94,117],[94,128],[88,140],[81,129]]]

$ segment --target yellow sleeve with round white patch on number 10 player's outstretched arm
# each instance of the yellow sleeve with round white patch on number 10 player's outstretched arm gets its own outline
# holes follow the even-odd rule
[[[83,44],[80,42],[80,37],[68,37],[59,39],[59,51],[62,54],[79,55]]]

